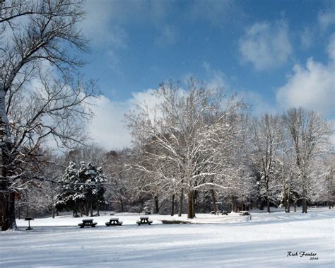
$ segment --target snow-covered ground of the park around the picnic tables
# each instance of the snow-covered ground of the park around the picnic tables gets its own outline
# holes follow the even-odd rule
[[[249,216],[197,214],[192,223],[162,224],[174,216],[117,214],[123,226],[105,226],[109,214],[81,219],[59,216],[18,220],[18,231],[0,233],[0,267],[334,267],[334,209],[285,214],[252,211]],[[113,216],[114,217],[114,216]],[[189,221],[186,216],[182,220]],[[288,256],[288,252],[292,252]],[[294,256],[298,252],[298,256]],[[313,253],[302,256],[300,252]],[[314,260],[315,258],[317,260]]]

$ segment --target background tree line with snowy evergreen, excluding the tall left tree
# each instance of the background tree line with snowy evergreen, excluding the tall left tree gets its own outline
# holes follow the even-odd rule
[[[222,207],[271,212],[271,206],[283,206],[290,212],[302,206],[307,213],[307,204],[334,206],[331,125],[321,115],[290,108],[281,115],[252,116],[236,96],[195,79],[187,89],[162,83],[153,94],[156,105],[141,103],[126,115],[131,148],[107,152],[89,146],[59,156],[63,168],[52,182],[54,198],[43,203],[49,210],[77,214],[81,206],[81,214],[88,214],[90,205],[90,215],[93,207],[102,207],[194,218]],[[88,165],[81,161],[101,166],[93,174],[103,180],[79,181],[76,175],[69,185],[71,173],[78,173],[75,165]],[[103,190],[89,202],[86,187]]]

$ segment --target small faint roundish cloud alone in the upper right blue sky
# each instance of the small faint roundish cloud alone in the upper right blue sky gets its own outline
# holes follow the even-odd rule
[[[281,66],[292,53],[287,23],[255,23],[240,38],[239,49],[242,62],[251,62],[257,70]]]

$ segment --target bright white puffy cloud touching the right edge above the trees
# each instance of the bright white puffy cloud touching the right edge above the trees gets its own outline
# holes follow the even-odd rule
[[[278,88],[278,105],[284,108],[302,106],[334,116],[334,63],[324,65],[310,58],[305,67],[295,64],[293,72],[286,85]]]

